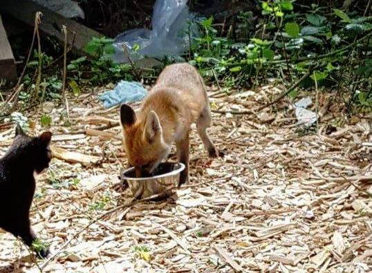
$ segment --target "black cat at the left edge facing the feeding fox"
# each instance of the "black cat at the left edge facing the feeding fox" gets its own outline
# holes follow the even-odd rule
[[[49,167],[52,133],[32,138],[18,125],[16,137],[0,159],[0,227],[22,238],[29,247],[37,236],[30,227],[30,207],[35,193],[34,172]],[[47,249],[39,256],[46,257]]]

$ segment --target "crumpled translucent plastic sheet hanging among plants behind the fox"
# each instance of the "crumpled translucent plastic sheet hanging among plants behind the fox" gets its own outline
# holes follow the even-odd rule
[[[114,62],[137,61],[143,57],[179,57],[189,47],[190,39],[198,37],[198,28],[187,0],[156,0],[151,30],[136,28],[115,37]],[[139,49],[136,50],[136,45]],[[123,50],[123,46],[127,50]]]

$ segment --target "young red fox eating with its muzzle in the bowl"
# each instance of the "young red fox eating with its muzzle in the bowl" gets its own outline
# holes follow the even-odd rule
[[[185,164],[179,185],[189,181],[189,131],[196,122],[210,157],[218,151],[210,140],[210,102],[201,75],[187,63],[171,64],[160,73],[138,111],[120,108],[124,150],[136,176],[151,174],[176,142],[178,161]]]

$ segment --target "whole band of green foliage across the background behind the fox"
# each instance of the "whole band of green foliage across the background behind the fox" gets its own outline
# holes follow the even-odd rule
[[[235,23],[224,26],[214,18],[198,20],[201,36],[189,45],[181,58],[167,57],[197,66],[205,79],[230,89],[254,88],[274,79],[290,86],[317,66],[300,87],[313,90],[315,79],[321,88],[351,105],[372,106],[372,17],[365,5],[344,8],[337,1],[256,1],[256,11],[241,11]],[[364,3],[364,1],[360,1]],[[234,38],[232,38],[234,37]],[[138,69],[133,64],[112,62],[113,40],[95,38],[85,50],[87,57],[68,55],[67,86],[79,95],[84,86],[102,86],[120,79],[153,81],[161,68]],[[138,50],[138,46],[136,50]],[[60,59],[60,57],[59,57]],[[40,100],[60,100],[62,73],[58,59],[37,50],[27,65],[21,106]],[[42,79],[37,83],[37,69]],[[0,86],[1,88],[1,86]],[[297,92],[290,93],[292,97]],[[44,119],[44,124],[49,121]]]

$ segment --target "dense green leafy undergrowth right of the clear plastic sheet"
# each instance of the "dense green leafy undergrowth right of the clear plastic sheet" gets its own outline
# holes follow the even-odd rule
[[[288,83],[318,64],[315,74],[301,86],[311,87],[314,79],[319,85],[340,86],[346,79],[357,77],[364,87],[353,97],[360,104],[369,105],[371,82],[366,79],[371,77],[368,60],[372,44],[368,39],[364,39],[364,47],[353,43],[362,35],[371,36],[372,18],[337,8],[328,13],[324,6],[315,3],[297,8],[294,3],[261,1],[263,21],[257,24],[261,30],[256,28],[244,43],[218,37],[213,19],[205,19],[200,24],[201,37],[192,47],[194,55],[190,62],[207,79],[218,81],[221,86],[234,82],[234,88],[249,82],[263,84],[268,77]],[[247,17],[237,17],[236,25],[247,25]],[[345,47],[348,49],[342,50]],[[362,62],[355,62],[357,55],[364,56],[366,62],[363,58]],[[348,69],[348,77],[344,77],[342,66],[355,69]],[[278,73],[280,70],[284,73]],[[291,93],[296,94],[296,90]]]

